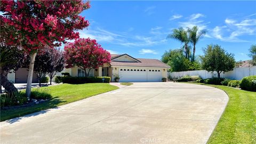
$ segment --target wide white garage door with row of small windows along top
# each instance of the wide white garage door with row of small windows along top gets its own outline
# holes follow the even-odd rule
[[[119,68],[119,82],[161,82],[162,69]]]

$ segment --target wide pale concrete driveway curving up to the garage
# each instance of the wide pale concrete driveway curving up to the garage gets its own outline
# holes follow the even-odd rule
[[[213,87],[134,83],[1,122],[1,143],[206,143],[227,102]]]

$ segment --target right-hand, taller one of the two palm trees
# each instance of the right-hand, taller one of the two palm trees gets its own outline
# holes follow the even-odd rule
[[[207,31],[205,29],[203,30],[198,30],[197,26],[194,26],[193,28],[188,28],[188,33],[189,33],[189,40],[190,42],[193,44],[193,56],[192,56],[192,60],[195,60],[195,52],[196,52],[196,44],[198,43],[199,39],[201,39],[206,33]]]

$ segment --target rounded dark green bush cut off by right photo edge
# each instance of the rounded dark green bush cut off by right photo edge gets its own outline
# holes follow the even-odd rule
[[[244,77],[241,81],[240,87],[242,90],[256,92],[256,76]]]

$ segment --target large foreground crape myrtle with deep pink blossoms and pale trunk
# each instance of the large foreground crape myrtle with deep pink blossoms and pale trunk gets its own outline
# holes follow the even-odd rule
[[[34,61],[38,50],[59,46],[67,39],[79,37],[76,30],[89,26],[78,15],[90,3],[77,1],[1,1],[1,35],[6,44],[18,44],[30,54],[26,95],[30,99]],[[12,33],[10,33],[12,32]]]

